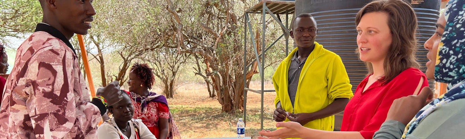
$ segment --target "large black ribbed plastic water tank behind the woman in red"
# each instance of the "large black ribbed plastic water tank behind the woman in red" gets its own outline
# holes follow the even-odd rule
[[[337,53],[345,65],[352,84],[352,91],[365,78],[365,64],[355,53],[357,49],[357,33],[355,16],[359,10],[372,0],[296,0],[296,15],[311,13],[317,21],[318,37],[316,41],[330,51]],[[407,0],[406,0],[407,1]],[[413,0],[419,1],[419,0]],[[439,18],[439,0],[424,0],[412,4],[419,20],[417,59],[422,66],[428,61],[423,44],[435,32],[436,21]],[[411,0],[408,0],[411,2]],[[423,68],[425,72],[426,68]],[[430,82],[430,86],[434,83]]]

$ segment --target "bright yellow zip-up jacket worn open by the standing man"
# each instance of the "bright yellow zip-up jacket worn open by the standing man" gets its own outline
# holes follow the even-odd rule
[[[315,49],[307,57],[304,67],[300,73],[299,84],[295,96],[294,107],[287,92],[287,73],[291,59],[297,51],[295,48],[280,64],[273,75],[273,85],[276,89],[274,105],[281,102],[286,112],[313,113],[317,112],[336,98],[352,99],[352,85],[345,71],[341,58],[323,48],[323,45],[315,42]],[[286,119],[285,121],[289,121]],[[326,131],[334,130],[334,116],[317,119],[308,122],[305,127]]]

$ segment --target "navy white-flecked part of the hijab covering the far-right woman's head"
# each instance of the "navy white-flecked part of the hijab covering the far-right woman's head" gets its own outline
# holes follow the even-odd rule
[[[451,0],[445,11],[446,25],[434,70],[437,82],[448,83],[448,89],[465,80],[464,1]]]

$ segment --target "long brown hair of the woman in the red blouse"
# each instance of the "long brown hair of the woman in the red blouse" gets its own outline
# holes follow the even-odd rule
[[[380,82],[387,83],[410,67],[420,68],[415,53],[417,51],[417,16],[410,4],[404,0],[375,0],[366,4],[357,13],[355,24],[359,25],[366,13],[383,12],[389,15],[388,25],[392,34],[392,44],[384,61],[384,76]],[[358,52],[359,50],[357,50]],[[368,75],[373,73],[373,65],[365,62]]]

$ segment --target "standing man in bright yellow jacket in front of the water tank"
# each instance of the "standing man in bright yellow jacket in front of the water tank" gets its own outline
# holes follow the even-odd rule
[[[276,69],[273,119],[333,131],[334,114],[342,112],[353,97],[352,85],[341,58],[315,42],[317,25],[312,15],[295,19],[291,37],[297,44]]]

